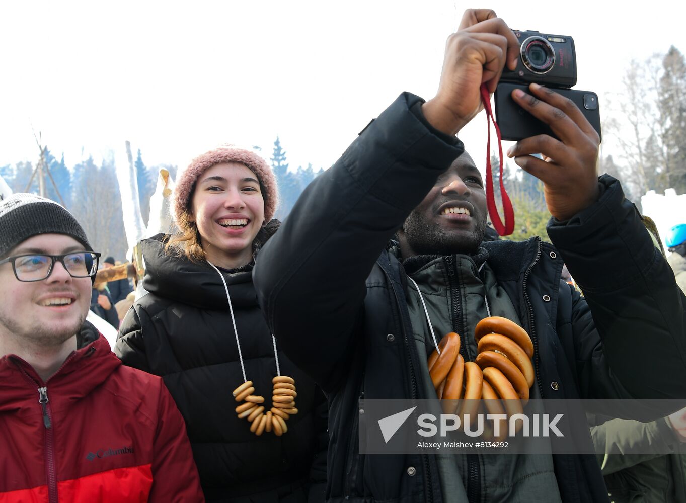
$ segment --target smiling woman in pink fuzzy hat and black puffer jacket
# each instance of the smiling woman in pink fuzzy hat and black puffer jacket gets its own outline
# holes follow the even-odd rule
[[[178,232],[143,241],[149,293],[115,345],[123,363],[164,378],[208,502],[324,500],[326,401],[279,349],[252,286],[277,204],[254,152],[194,159],[174,193]]]

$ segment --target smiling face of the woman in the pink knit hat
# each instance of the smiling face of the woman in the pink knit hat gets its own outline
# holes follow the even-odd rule
[[[202,173],[191,212],[210,262],[227,269],[250,262],[252,241],[264,223],[264,198],[257,175],[245,164],[224,162]]]

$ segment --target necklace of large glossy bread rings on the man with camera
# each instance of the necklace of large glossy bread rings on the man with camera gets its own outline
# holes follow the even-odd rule
[[[465,362],[460,354],[461,341],[458,334],[450,332],[440,343],[436,341],[419,286],[409,275],[407,278],[410,278],[419,294],[431,339],[434,341],[435,349],[429,356],[427,367],[436,396],[439,400],[446,400],[443,402],[444,412],[458,413],[460,416],[469,414],[473,417],[483,404],[489,414],[506,414],[509,418],[523,413],[523,406],[529,401],[529,390],[534,385],[535,378],[531,363],[534,345],[529,334],[514,321],[491,316],[488,299],[484,295],[488,317],[479,321],[474,330],[477,357],[474,362]],[[464,402],[460,406],[449,400]],[[506,430],[504,421],[501,420],[500,432]],[[521,422],[517,426],[519,430]],[[493,438],[493,431],[486,431],[486,437]],[[504,434],[501,433],[498,439],[503,438]]]

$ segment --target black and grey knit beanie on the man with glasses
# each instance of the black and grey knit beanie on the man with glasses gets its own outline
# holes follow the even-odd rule
[[[0,257],[38,234],[65,234],[91,250],[81,225],[55,201],[25,193],[0,201]]]

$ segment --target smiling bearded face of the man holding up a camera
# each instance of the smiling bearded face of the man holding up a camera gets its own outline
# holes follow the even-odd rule
[[[403,258],[475,252],[484,238],[486,215],[484,182],[465,152],[405,219],[398,233]]]

